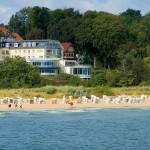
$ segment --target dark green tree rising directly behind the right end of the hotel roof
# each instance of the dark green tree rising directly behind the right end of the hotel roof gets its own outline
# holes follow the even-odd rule
[[[50,12],[48,37],[61,42],[75,42],[75,29],[80,24],[81,15],[73,8],[57,9]]]

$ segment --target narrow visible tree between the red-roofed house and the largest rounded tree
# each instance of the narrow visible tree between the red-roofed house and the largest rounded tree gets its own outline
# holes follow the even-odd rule
[[[79,54],[87,58],[85,63],[91,63],[95,68],[96,52],[92,43],[93,21],[98,16],[96,11],[87,11],[82,16],[80,25],[75,29],[75,43],[78,47]],[[92,51],[93,50],[93,51]]]

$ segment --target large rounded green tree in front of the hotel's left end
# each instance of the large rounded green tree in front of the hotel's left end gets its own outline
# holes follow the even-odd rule
[[[41,85],[42,78],[37,68],[22,57],[6,57],[0,63],[0,87],[20,88]]]

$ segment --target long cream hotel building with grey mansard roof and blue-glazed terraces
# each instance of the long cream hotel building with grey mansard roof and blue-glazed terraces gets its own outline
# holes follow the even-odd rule
[[[21,56],[28,63],[37,66],[41,75],[67,73],[80,78],[91,78],[90,65],[78,64],[75,59],[66,59],[73,54],[73,49],[64,53],[64,48],[55,40],[4,40],[0,43],[0,60],[6,56]]]

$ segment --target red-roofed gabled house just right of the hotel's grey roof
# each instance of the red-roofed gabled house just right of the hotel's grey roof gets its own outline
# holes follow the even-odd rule
[[[74,46],[72,43],[61,43],[63,47],[63,58],[65,60],[77,60],[76,53]]]

